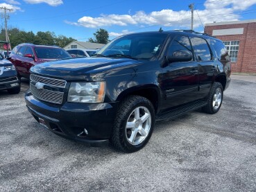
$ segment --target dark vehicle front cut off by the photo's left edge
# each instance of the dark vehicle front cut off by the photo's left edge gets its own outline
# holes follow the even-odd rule
[[[10,94],[19,94],[20,82],[17,78],[15,66],[0,53],[0,90],[7,90]]]

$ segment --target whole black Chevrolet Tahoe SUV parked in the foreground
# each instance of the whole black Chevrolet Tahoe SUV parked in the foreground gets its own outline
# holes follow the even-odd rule
[[[218,112],[229,84],[220,40],[191,30],[147,32],[118,37],[92,58],[38,64],[25,98],[56,134],[134,152],[155,121],[198,108]]]

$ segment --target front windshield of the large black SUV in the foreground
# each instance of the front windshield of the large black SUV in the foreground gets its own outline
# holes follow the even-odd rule
[[[166,39],[163,33],[125,35],[108,43],[95,56],[150,60],[160,53]]]

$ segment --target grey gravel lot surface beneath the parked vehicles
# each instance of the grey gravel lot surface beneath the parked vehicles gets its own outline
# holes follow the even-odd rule
[[[239,79],[239,78],[237,78]],[[155,125],[133,154],[58,137],[0,91],[0,191],[256,191],[256,80],[232,80],[219,113]]]

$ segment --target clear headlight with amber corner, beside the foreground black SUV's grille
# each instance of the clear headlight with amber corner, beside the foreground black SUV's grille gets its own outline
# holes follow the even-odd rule
[[[73,103],[103,103],[105,97],[105,82],[71,82],[68,102]]]

